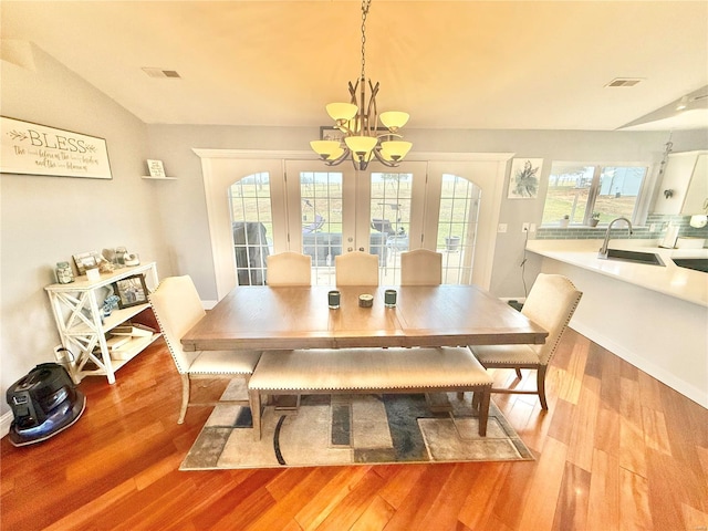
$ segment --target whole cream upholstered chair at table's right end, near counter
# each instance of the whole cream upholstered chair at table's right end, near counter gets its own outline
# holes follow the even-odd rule
[[[470,346],[485,368],[513,368],[519,381],[522,378],[522,368],[537,371],[535,391],[492,387],[492,393],[539,395],[541,408],[549,408],[545,399],[545,373],[582,295],[566,277],[539,273],[521,313],[548,331],[545,343]]]

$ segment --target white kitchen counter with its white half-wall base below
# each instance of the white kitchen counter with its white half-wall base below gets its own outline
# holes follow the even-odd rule
[[[671,258],[707,249],[662,249],[655,240],[610,240],[610,249],[657,253],[665,267],[597,258],[602,240],[532,240],[531,268],[564,274],[583,298],[571,326],[635,367],[708,407],[708,273]]]

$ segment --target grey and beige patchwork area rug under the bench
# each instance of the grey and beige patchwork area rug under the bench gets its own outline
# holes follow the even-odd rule
[[[251,427],[248,407],[216,406],[179,469],[533,460],[493,400],[479,436],[469,393],[306,395],[295,410],[267,406],[260,440]]]

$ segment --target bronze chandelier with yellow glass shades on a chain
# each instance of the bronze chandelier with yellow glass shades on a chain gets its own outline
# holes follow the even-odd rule
[[[366,15],[372,0],[362,0],[362,74],[354,85],[348,83],[350,103],[330,103],[327,114],[335,127],[343,133],[343,140],[312,140],[310,146],[327,166],[336,166],[350,159],[355,169],[366,169],[374,158],[388,167],[398,166],[413,146],[402,140],[399,129],[408,122],[408,113],[388,111],[378,114],[376,94],[378,82],[374,85],[366,80]],[[369,96],[366,97],[368,84]],[[378,121],[384,127],[378,126]]]

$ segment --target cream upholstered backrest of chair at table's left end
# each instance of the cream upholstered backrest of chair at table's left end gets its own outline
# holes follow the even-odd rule
[[[149,301],[177,371],[187,373],[199,352],[185,352],[180,340],[206,315],[197,288],[189,275],[167,277],[149,294]]]

